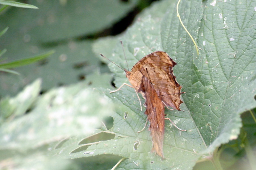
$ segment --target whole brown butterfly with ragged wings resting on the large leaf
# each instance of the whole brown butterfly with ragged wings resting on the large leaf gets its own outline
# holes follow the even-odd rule
[[[170,120],[170,118],[164,118],[164,106],[180,110],[180,104],[183,103],[180,99],[180,89],[182,87],[177,83],[176,77],[172,73],[172,68],[176,64],[167,53],[155,51],[143,57],[132,67],[131,71],[122,69],[117,65],[125,71],[126,77],[132,85],[124,83],[117,90],[112,91],[116,92],[122,86],[128,85],[135,89],[137,96],[137,92],[142,94],[146,100],[145,114],[148,115],[148,120],[150,121],[149,130],[153,142],[152,152],[156,152],[162,158],[164,157],[164,120]],[[140,109],[142,110],[141,103]],[[173,122],[172,124],[178,128]]]

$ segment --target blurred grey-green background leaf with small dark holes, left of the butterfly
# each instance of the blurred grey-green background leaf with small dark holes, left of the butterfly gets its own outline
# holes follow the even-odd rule
[[[21,75],[19,79],[16,75],[1,74],[0,88],[5,90],[0,91],[0,95],[16,95],[23,86],[38,77],[43,80],[42,89],[48,90],[54,86],[79,82],[95,72],[104,72],[104,69],[108,69],[107,65],[100,63],[100,59],[97,57],[99,54],[92,53],[92,41],[70,41],[68,44],[47,49],[54,49],[56,52],[43,62],[15,69]],[[45,49],[40,49],[39,52],[41,51],[44,52]],[[17,57],[27,56],[26,52],[26,50],[21,50]],[[24,82],[23,79],[28,82]],[[98,85],[103,87],[105,83],[109,84],[109,81],[100,81]]]

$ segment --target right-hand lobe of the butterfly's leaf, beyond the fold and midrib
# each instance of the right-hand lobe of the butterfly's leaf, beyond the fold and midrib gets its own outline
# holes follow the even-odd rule
[[[211,146],[208,151],[236,139],[242,126],[240,114],[255,108],[253,6],[255,0],[217,2],[208,3],[204,11],[198,33],[202,48],[197,58],[198,71],[193,71],[196,75],[185,101],[193,116],[201,119],[197,126],[205,143]]]

